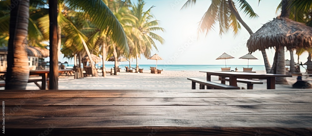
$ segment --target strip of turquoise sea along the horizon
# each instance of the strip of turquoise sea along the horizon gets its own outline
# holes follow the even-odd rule
[[[73,65],[69,65],[73,66]],[[119,65],[119,68],[125,69],[125,66],[129,65]],[[100,68],[99,65],[96,67]],[[105,65],[105,68],[113,68],[114,65]],[[135,65],[131,65],[132,68],[135,68]],[[149,70],[150,67],[155,67],[155,65],[139,65],[139,68],[144,70]],[[231,70],[237,69],[242,71],[243,68],[247,68],[247,65],[227,65],[231,67]],[[157,65],[157,69],[169,70],[169,71],[221,71],[221,68],[225,68],[225,65]],[[252,68],[253,71],[257,70],[266,70],[264,65],[249,65],[249,68]]]

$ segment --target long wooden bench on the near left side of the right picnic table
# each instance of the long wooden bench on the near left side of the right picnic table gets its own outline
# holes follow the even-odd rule
[[[195,83],[199,83],[199,89],[205,89],[205,86],[207,86],[207,89],[226,89],[226,90],[240,89],[239,87],[234,87],[234,86],[229,86],[226,84],[211,82],[211,81],[207,81],[207,80],[201,79],[201,78],[188,78],[188,80],[192,81],[192,89],[196,89]]]

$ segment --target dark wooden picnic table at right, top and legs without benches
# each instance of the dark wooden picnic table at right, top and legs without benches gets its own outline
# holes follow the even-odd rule
[[[250,72],[223,72],[223,71],[200,71],[207,73],[207,81],[211,81],[211,76],[219,76],[221,78],[229,77],[230,86],[237,87],[237,78],[248,79],[266,79],[267,89],[275,89],[275,77],[292,77],[284,74],[259,74]]]

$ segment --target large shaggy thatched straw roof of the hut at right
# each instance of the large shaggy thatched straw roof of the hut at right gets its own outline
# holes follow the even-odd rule
[[[247,41],[248,50],[265,50],[274,46],[287,49],[311,48],[312,27],[285,17],[276,17],[264,24]]]

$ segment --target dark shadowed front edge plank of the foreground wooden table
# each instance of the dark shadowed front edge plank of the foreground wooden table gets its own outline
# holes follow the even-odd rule
[[[96,127],[96,128],[54,128],[48,132],[49,126],[44,129],[6,129],[7,134],[13,135],[40,135],[46,131],[49,136],[190,136],[190,135],[228,135],[228,136],[311,136],[311,128],[223,128],[223,127]],[[49,129],[51,130],[51,129]]]

